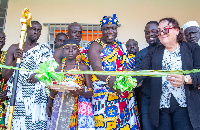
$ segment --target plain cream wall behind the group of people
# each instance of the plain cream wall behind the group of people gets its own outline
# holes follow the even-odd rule
[[[9,0],[6,18],[6,45],[18,43],[20,38],[21,11],[28,7],[33,20],[43,23],[91,23],[99,24],[105,15],[117,14],[121,27],[118,39],[126,42],[135,39],[140,49],[147,46],[144,26],[148,21],[174,17],[182,26],[189,20],[200,24],[200,0]],[[47,42],[47,30],[43,26],[38,42]]]

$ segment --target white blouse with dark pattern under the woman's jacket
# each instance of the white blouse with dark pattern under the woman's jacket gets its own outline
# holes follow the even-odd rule
[[[166,49],[164,50],[162,70],[182,70],[180,47],[177,47],[174,52],[169,52]],[[166,78],[167,76],[162,76],[160,108],[170,107],[171,94],[173,94],[180,107],[187,107],[184,85],[173,87]]]

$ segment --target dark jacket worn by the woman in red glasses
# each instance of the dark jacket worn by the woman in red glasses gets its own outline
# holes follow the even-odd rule
[[[165,47],[160,45],[150,50],[136,70],[162,70],[162,60]],[[183,70],[200,69],[200,47],[193,43],[180,43],[180,53]],[[184,85],[187,108],[193,128],[200,127],[200,73],[191,73],[192,85]],[[140,82],[144,77],[137,77]],[[159,125],[159,107],[162,94],[162,78],[151,77],[151,95],[149,115],[152,123]]]

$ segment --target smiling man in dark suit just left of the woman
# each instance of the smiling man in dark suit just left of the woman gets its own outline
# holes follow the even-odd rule
[[[157,21],[150,21],[146,24],[144,32],[145,32],[146,42],[149,44],[149,46],[137,52],[135,56],[135,68],[139,66],[140,62],[142,61],[142,59],[145,57],[145,55],[149,50],[155,48],[158,44],[160,44],[160,41],[156,34],[157,30],[158,30]],[[135,89],[139,113],[142,115],[140,118],[142,118],[141,124],[143,130],[155,129],[155,127],[152,125],[151,121],[148,118],[148,106],[150,102],[149,84],[150,84],[149,78],[146,78],[142,83],[142,87],[138,87]]]

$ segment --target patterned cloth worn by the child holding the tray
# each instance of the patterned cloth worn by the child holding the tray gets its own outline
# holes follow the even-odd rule
[[[64,58],[63,70],[65,65]],[[79,69],[79,62],[76,62],[74,69]],[[85,77],[83,74],[65,74],[64,82],[74,81],[85,88]],[[50,130],[94,130],[94,115],[92,104],[89,98],[74,96],[70,92],[58,92],[55,96],[53,112],[51,117]]]

